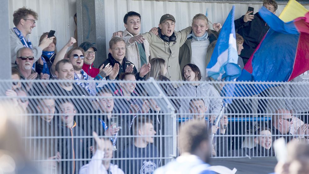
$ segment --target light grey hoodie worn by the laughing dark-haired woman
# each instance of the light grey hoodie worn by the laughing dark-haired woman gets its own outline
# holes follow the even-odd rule
[[[218,91],[208,83],[201,83],[197,87],[191,84],[185,84],[176,89],[176,96],[186,97],[179,99],[180,108],[179,112],[188,113],[189,103],[192,98],[204,97],[203,100],[207,106],[207,110],[213,115],[219,115],[220,110],[223,106],[222,99]]]

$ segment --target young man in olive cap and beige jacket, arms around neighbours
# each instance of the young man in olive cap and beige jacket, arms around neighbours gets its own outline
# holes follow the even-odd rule
[[[162,58],[167,65],[165,74],[171,81],[182,80],[179,67],[179,48],[185,43],[192,27],[187,27],[181,31],[174,31],[175,18],[171,14],[164,14],[159,23],[158,35],[146,32],[141,35],[131,37],[127,42],[143,43],[149,42],[150,59]],[[114,33],[115,34],[115,33]]]

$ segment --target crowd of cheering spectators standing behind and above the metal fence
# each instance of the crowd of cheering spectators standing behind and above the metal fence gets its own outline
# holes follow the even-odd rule
[[[264,0],[263,6],[272,13],[278,8],[274,0]],[[235,20],[241,69],[269,29],[258,13],[250,13]],[[32,139],[30,144],[40,148],[29,152],[35,159],[51,160],[44,165],[55,173],[144,174],[162,166],[160,159],[165,150],[159,144],[165,140],[156,135],[161,136],[167,125],[164,125],[164,117],[157,116],[160,103],[147,98],[153,91],[149,91],[151,88],[146,87],[146,83],[135,82],[150,78],[165,82],[188,81],[183,85],[159,83],[159,87],[166,96],[179,97],[170,102],[179,115],[180,125],[187,124],[187,120],[200,120],[215,135],[210,143],[213,156],[273,156],[272,142],[279,137],[284,137],[286,142],[308,139],[307,118],[303,116],[305,122],[301,122],[293,116],[292,110],[285,108],[277,108],[269,123],[254,130],[257,135],[254,148],[241,146],[246,126],[238,132],[229,131],[240,127],[231,125],[226,115],[215,126],[223,107],[219,94],[223,86],[211,85],[205,80],[214,81],[206,77],[206,67],[222,26],[214,23],[211,30],[211,22],[204,14],[196,14],[192,25],[181,31],[174,31],[174,16],[164,14],[159,27],[141,34],[141,15],[130,11],[124,16],[125,30],[113,33],[107,59],[98,67],[93,65],[98,49],[91,42],[71,48],[76,43],[71,37],[57,51],[56,36],[47,37],[45,32],[39,45],[34,46],[29,35],[36,27],[38,14],[24,7],[17,9],[13,17],[12,79],[41,79],[41,82],[14,82],[6,95],[12,97],[16,108],[29,118],[24,136],[49,137],[46,141]],[[53,79],[63,82],[53,82]],[[114,83],[114,80],[123,82]],[[43,98],[36,98],[38,96]],[[203,127],[199,129],[205,131]],[[236,140],[237,135],[241,138]],[[185,146],[180,148],[183,148],[180,152],[193,153]],[[207,158],[208,152],[203,153]],[[113,161],[115,164],[112,164],[113,157],[117,158]]]

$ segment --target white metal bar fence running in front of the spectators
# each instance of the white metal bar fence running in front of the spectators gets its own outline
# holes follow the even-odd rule
[[[279,137],[308,141],[308,83],[106,81],[91,96],[74,82],[0,82],[2,100],[21,111],[23,149],[47,173],[89,173],[91,165],[99,173],[109,162],[124,173],[153,171],[179,155],[179,128],[194,119],[215,134],[213,158],[273,156]],[[220,96],[231,85],[236,96]]]

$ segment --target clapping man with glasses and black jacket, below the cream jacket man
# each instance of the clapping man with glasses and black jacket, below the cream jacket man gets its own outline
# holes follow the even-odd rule
[[[145,64],[141,67],[140,72],[137,72],[134,64],[125,58],[125,42],[121,37],[113,37],[109,41],[108,59],[103,62],[104,65],[113,66],[112,73],[106,77],[110,80],[118,80],[119,75],[124,72],[135,74],[137,80],[143,80],[144,76],[150,71],[150,64]],[[103,65],[102,64],[102,65]],[[101,66],[102,66],[101,65]]]

